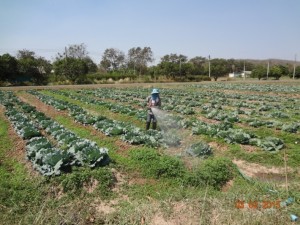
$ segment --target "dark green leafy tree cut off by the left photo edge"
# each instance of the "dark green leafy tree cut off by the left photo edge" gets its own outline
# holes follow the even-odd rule
[[[0,56],[0,80],[12,81],[18,75],[18,61],[10,54]]]

